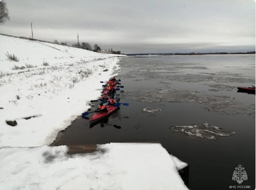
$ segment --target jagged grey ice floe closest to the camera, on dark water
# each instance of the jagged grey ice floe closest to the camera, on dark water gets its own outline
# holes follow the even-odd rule
[[[200,138],[207,138],[207,139],[218,139],[221,136],[230,136],[235,134],[235,132],[225,131],[222,128],[215,127],[215,126],[208,126],[208,123],[204,123],[202,125],[183,125],[183,126],[171,126],[169,129],[172,132],[181,132],[185,135],[195,136]]]

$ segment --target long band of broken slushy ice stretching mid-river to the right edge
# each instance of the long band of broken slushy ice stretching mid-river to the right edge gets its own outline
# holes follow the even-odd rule
[[[192,90],[168,89],[158,90],[158,92],[125,92],[122,94],[122,98],[139,102],[196,102],[204,105],[206,111],[215,112],[221,115],[247,114],[255,117],[255,105],[253,104],[241,104],[231,96],[207,95]]]

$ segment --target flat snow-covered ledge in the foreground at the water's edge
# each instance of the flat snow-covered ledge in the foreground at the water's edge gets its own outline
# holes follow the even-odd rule
[[[93,154],[73,155],[66,154],[66,146],[1,148],[0,189],[188,189],[160,144],[98,148]]]

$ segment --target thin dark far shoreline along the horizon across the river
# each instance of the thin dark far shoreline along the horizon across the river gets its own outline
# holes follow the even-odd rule
[[[143,56],[143,55],[232,55],[232,54],[255,54],[252,52],[214,52],[214,53],[166,53],[166,54],[125,54],[127,56]]]

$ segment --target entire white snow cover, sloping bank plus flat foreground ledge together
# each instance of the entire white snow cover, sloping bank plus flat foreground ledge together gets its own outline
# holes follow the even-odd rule
[[[77,155],[49,146],[120,71],[116,55],[2,35],[0,44],[0,189],[187,189],[177,172],[187,164],[160,144]]]

